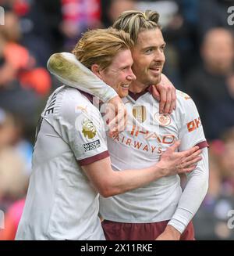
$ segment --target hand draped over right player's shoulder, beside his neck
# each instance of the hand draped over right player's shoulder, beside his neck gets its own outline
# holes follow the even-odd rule
[[[153,96],[159,101],[160,114],[172,114],[176,110],[176,88],[165,74],[161,74],[158,85],[152,86]]]

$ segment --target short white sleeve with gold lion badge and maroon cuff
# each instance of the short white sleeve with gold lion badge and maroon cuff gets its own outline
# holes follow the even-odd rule
[[[61,107],[58,123],[62,138],[69,144],[80,165],[109,156],[105,124],[100,112],[88,100],[74,102],[70,99]]]

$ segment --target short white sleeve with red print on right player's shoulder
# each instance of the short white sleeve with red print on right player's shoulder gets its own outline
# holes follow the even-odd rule
[[[184,94],[181,97],[181,126],[179,128],[180,146],[179,150],[187,150],[192,146],[207,147],[200,116],[197,107],[190,96]]]

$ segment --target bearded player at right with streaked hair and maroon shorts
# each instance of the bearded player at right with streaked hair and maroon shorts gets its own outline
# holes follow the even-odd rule
[[[179,175],[167,175],[139,189],[101,197],[102,227],[108,240],[193,240],[191,220],[207,193],[208,145],[193,99],[177,90],[176,110],[163,115],[152,96],[152,85],[161,80],[165,63],[165,41],[158,18],[155,11],[126,11],[113,24],[133,40],[133,73],[137,79],[129,85],[129,96],[122,99],[135,123],[108,138],[112,168],[119,173],[123,168],[160,163],[163,153],[178,139],[181,152],[199,146],[202,160],[188,174],[183,191]]]

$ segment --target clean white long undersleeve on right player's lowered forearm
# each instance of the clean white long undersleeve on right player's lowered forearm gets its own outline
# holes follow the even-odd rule
[[[179,200],[175,214],[168,225],[172,225],[179,233],[183,233],[193,216],[196,214],[208,189],[208,155],[207,148],[203,149],[202,160],[190,174],[186,188]]]

